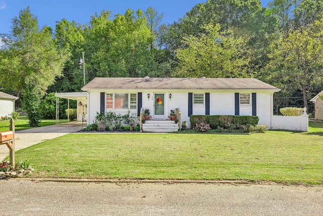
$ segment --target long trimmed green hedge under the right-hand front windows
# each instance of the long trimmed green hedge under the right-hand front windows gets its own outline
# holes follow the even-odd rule
[[[237,125],[256,125],[258,124],[258,116],[249,115],[191,115],[190,123],[191,127],[196,123],[204,122],[209,124],[212,129],[220,127],[225,127],[226,123],[233,123]]]

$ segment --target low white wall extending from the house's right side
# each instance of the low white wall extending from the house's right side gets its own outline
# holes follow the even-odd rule
[[[306,108],[301,116],[273,115],[272,129],[286,129],[289,131],[308,131],[308,115]]]

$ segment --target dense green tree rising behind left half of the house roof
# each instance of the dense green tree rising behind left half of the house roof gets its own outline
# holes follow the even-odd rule
[[[149,47],[153,41],[147,20],[141,10],[126,11],[113,20],[102,12],[92,17],[85,29],[87,47],[95,49],[89,64],[97,70],[96,75],[107,77],[141,77],[149,73],[154,63]],[[86,49],[87,49],[86,48]],[[85,50],[87,51],[87,50]]]

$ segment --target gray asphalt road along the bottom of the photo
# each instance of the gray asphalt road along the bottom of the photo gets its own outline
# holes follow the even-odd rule
[[[0,215],[323,215],[323,186],[0,181]]]

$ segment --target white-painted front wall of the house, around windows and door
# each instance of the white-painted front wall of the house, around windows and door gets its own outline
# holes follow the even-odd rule
[[[92,123],[96,116],[96,112],[100,112],[100,92],[104,91],[89,91],[88,95],[88,123]],[[234,115],[235,114],[235,93],[238,90],[228,90],[228,91],[179,91],[179,90],[167,90],[167,91],[140,91],[140,90],[109,90],[106,93],[142,93],[142,108],[149,109],[150,115],[153,116],[154,110],[154,94],[165,94],[164,106],[165,106],[165,119],[170,115],[171,109],[180,108],[181,110],[181,120],[186,121],[189,124],[188,116],[188,93],[209,93],[210,94],[210,115]],[[172,94],[171,100],[169,99],[169,94]],[[243,93],[256,93],[257,102],[257,116],[259,117],[259,124],[267,125],[271,127],[271,118],[273,113],[272,108],[272,91],[248,91]],[[147,94],[150,95],[149,100]],[[205,95],[204,95],[205,100]],[[205,103],[202,108],[203,110],[198,110],[198,113],[205,114]],[[240,109],[240,112],[242,110]],[[251,106],[248,107],[248,113],[251,115]],[[193,108],[193,114],[197,114],[197,110]],[[241,113],[243,114],[243,112]]]

